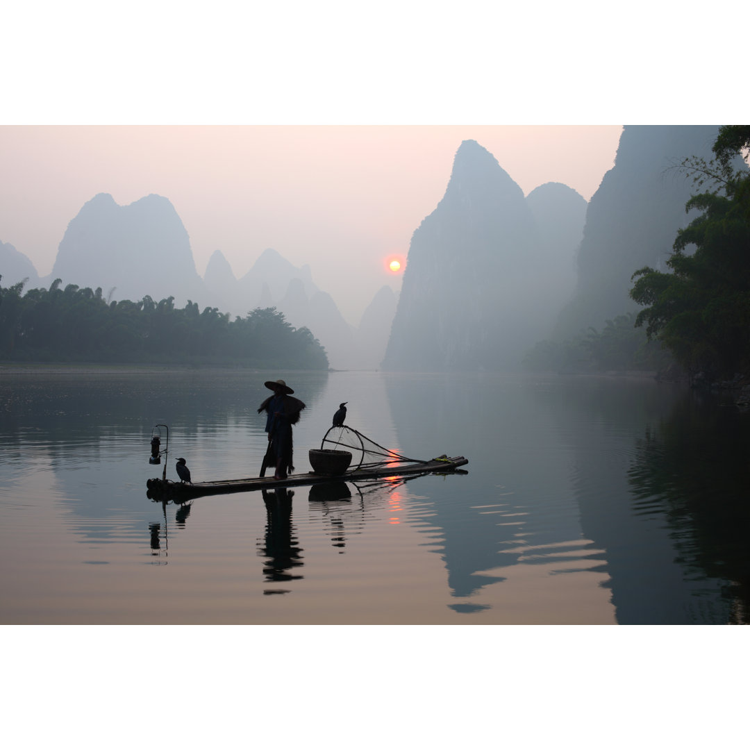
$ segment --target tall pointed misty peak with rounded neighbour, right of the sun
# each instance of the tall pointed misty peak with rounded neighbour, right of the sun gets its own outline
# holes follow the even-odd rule
[[[489,151],[461,143],[443,199],[413,235],[383,367],[514,368],[571,292],[575,196],[545,186],[527,200]]]

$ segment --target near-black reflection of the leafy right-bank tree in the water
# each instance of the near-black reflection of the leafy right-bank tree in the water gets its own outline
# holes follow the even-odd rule
[[[744,422],[735,410],[686,394],[637,442],[629,474],[639,512],[664,514],[686,575],[721,582],[724,602],[731,602],[721,619],[734,624],[750,623]]]

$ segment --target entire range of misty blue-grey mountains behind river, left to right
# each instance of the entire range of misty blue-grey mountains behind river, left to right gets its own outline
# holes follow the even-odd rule
[[[62,278],[105,296],[113,290],[113,299],[174,296],[176,305],[190,299],[239,316],[275,307],[311,329],[335,369],[514,369],[537,341],[636,307],[632,273],[663,265],[690,220],[684,206],[694,186],[670,167],[690,155],[710,158],[717,130],[625,126],[615,166],[589,203],[560,183],[524,197],[487,149],[464,141],[443,198],[413,233],[400,296],[380,290],[359,327],[317,287],[310,266],[297,268],[272,248],[240,279],[215,251],[200,278],[181,220],[156,195],[129,206],[107,193],[87,202],[46,279],[0,244],[2,284]]]

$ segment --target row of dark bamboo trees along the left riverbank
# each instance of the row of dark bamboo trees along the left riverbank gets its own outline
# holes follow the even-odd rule
[[[1,279],[1,277],[0,277]],[[306,328],[295,329],[276,308],[229,320],[217,308],[199,311],[174,298],[107,302],[101,288],[56,280],[23,294],[23,282],[0,285],[0,358],[8,362],[133,362],[244,365],[326,370],[326,350]]]

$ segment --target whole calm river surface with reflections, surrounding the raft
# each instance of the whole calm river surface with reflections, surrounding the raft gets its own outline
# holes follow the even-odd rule
[[[163,505],[167,478],[257,475],[263,381],[466,474]],[[0,621],[745,622],[750,423],[649,380],[244,371],[0,374]]]

